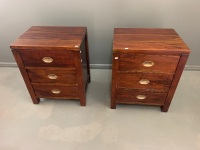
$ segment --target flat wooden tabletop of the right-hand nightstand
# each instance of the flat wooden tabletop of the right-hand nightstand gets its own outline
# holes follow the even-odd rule
[[[189,48],[174,29],[115,28],[113,51],[182,54]]]

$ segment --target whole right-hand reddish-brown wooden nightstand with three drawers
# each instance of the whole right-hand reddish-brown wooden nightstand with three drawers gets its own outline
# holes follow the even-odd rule
[[[173,29],[114,29],[111,108],[144,104],[168,111],[189,53]]]

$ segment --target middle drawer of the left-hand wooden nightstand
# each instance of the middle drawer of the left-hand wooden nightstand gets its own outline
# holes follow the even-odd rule
[[[61,68],[51,69],[28,69],[27,73],[32,83],[63,83],[76,84],[77,75],[75,70]]]

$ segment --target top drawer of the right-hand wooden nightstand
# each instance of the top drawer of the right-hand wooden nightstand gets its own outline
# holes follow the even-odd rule
[[[180,56],[119,53],[119,70],[174,73]]]

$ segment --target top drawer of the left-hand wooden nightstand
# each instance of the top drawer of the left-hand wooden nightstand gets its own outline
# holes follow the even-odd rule
[[[56,50],[23,50],[20,56],[28,67],[67,67],[75,68],[74,53]]]

